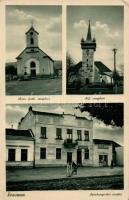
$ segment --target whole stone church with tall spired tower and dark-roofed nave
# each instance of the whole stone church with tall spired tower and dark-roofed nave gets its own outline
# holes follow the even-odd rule
[[[112,71],[101,61],[94,61],[96,46],[96,39],[92,38],[89,21],[87,37],[81,39],[82,61],[74,66],[77,68],[76,75],[79,77],[81,85],[111,83]]]

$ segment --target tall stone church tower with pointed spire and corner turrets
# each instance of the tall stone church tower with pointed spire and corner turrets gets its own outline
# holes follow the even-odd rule
[[[82,85],[88,85],[95,82],[94,70],[94,52],[96,51],[95,37],[92,39],[90,20],[88,26],[87,37],[81,39],[82,48],[82,68],[80,69]]]

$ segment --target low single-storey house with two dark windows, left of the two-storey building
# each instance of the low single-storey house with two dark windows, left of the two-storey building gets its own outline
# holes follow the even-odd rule
[[[6,129],[6,166],[32,167],[34,135],[31,130]]]

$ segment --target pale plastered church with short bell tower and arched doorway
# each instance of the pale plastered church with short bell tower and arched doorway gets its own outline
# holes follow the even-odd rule
[[[52,76],[54,60],[39,48],[39,33],[33,25],[25,33],[26,48],[17,56],[17,75],[28,75],[32,78]]]

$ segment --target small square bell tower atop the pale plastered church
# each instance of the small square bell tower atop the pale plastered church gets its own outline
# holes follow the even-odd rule
[[[38,47],[38,35],[39,33],[32,25],[26,32],[26,47]]]

